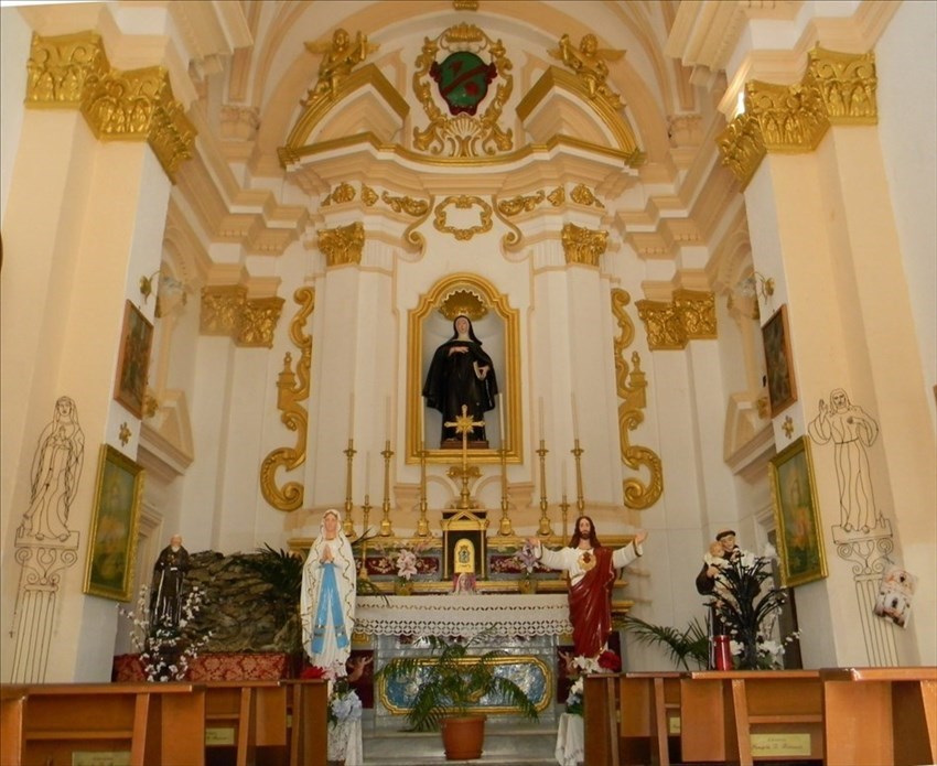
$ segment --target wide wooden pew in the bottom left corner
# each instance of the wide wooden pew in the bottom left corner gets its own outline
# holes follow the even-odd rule
[[[75,754],[129,753],[131,766],[204,765],[205,691],[200,686],[50,683],[21,689],[22,759],[13,763],[69,766]]]

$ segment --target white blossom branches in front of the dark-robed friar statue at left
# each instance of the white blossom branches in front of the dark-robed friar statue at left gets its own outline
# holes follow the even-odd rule
[[[208,643],[212,632],[198,635],[193,619],[202,609],[204,593],[195,585],[182,603],[179,624],[161,622],[150,624],[150,589],[140,586],[136,608],[130,612],[118,605],[117,611],[132,624],[130,643],[140,655],[148,681],[181,681],[189,672],[192,660]]]

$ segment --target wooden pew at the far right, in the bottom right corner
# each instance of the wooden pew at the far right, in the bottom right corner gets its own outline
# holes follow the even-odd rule
[[[937,763],[937,668],[836,668],[823,684],[827,766]]]

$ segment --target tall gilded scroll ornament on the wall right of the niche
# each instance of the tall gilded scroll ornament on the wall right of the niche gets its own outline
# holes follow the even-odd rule
[[[632,352],[632,366],[625,359],[625,350],[635,336],[634,323],[625,313],[631,295],[624,290],[612,291],[612,313],[621,334],[614,341],[615,388],[618,399],[618,443],[622,463],[639,471],[647,470],[649,481],[644,484],[639,478],[629,477],[622,483],[624,504],[628,508],[649,508],[664,493],[664,465],[660,457],[650,449],[631,443],[629,432],[644,422],[643,410],[647,407],[647,378],[640,369],[640,356]]]

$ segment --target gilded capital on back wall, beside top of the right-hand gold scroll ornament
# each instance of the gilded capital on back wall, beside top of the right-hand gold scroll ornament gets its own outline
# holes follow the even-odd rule
[[[651,350],[679,350],[692,339],[717,337],[715,296],[711,292],[675,290],[671,302],[636,301]]]

